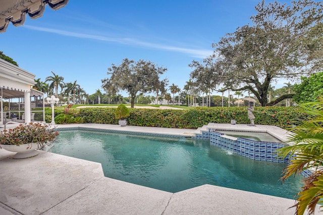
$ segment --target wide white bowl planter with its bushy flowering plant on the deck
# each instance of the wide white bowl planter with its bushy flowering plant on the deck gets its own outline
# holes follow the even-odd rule
[[[29,158],[38,154],[38,149],[50,146],[59,135],[47,124],[31,122],[0,132],[0,149],[17,152],[14,159]]]

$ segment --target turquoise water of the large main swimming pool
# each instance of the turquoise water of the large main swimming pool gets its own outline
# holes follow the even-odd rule
[[[169,192],[212,184],[294,198],[302,186],[301,176],[281,184],[284,164],[253,161],[208,140],[69,130],[48,151],[99,162],[106,177]]]

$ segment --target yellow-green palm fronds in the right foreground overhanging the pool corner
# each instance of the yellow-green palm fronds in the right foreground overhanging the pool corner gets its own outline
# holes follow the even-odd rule
[[[282,180],[299,174],[303,170],[313,170],[311,175],[304,178],[304,186],[297,194],[296,213],[314,213],[317,203],[323,203],[323,98],[319,102],[299,105],[307,114],[308,120],[300,120],[298,125],[291,128],[290,146],[280,149],[279,156],[290,157],[290,163],[285,168]],[[322,206],[321,206],[322,207]]]

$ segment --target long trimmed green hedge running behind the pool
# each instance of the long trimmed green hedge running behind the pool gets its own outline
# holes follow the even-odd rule
[[[255,124],[276,125],[286,128],[297,120],[306,119],[297,107],[255,107]],[[118,124],[115,117],[116,108],[84,108],[77,115],[85,123]],[[198,128],[209,122],[230,123],[235,119],[237,124],[248,124],[245,107],[214,107],[192,108],[189,110],[158,110],[130,108],[128,125],[168,127],[168,128]]]

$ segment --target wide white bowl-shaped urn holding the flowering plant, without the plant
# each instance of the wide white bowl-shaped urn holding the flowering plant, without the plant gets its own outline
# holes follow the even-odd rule
[[[30,158],[38,155],[37,144],[21,144],[17,145],[0,145],[1,148],[9,152],[16,152],[14,159]]]

